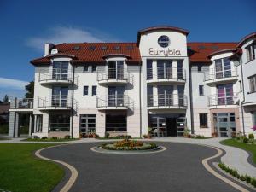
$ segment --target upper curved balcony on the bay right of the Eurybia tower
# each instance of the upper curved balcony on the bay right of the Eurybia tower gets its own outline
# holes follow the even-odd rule
[[[238,79],[237,69],[235,70],[226,70],[216,72],[212,70],[206,72],[204,76],[205,84],[221,84],[221,83],[231,83],[235,82]]]

